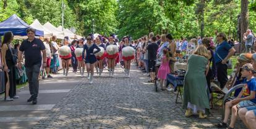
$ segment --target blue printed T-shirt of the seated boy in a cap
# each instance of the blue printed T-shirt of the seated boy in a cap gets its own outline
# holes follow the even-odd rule
[[[251,91],[255,91],[256,92],[256,80],[255,78],[250,79],[250,80],[246,80],[244,79],[244,87],[242,88],[242,98],[249,96]],[[256,95],[255,95],[256,96]],[[250,100],[254,103],[256,103],[256,97],[252,100]]]

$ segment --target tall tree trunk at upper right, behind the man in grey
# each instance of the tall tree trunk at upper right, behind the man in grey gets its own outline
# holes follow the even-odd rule
[[[248,29],[249,24],[249,13],[248,13],[248,0],[241,1],[241,37],[244,37],[244,33]],[[245,41],[241,42],[241,52],[245,51]]]

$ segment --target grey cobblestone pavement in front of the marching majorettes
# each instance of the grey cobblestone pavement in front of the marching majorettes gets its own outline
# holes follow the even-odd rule
[[[93,85],[82,79],[33,128],[214,128],[220,120],[216,112],[204,120],[186,118],[175,93],[155,92],[139,70],[130,78],[121,69],[116,72],[113,78],[96,76]]]

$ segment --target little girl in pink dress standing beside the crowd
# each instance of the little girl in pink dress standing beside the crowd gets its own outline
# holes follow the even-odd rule
[[[163,81],[166,80],[166,77],[167,77],[167,74],[169,74],[169,71],[170,71],[170,68],[169,68],[168,49],[163,49],[163,58],[162,58],[161,66],[158,70],[158,79],[160,79],[161,90],[164,90]]]

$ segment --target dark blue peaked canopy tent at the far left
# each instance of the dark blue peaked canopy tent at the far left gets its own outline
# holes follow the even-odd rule
[[[12,31],[14,36],[27,36],[26,30],[32,28],[30,25],[21,20],[17,15],[12,15],[8,19],[0,23],[0,36],[7,31]],[[43,31],[35,29],[36,36],[44,36]]]

